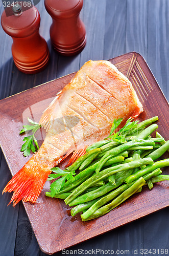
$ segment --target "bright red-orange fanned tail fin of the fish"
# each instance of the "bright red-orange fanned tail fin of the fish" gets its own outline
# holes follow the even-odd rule
[[[25,164],[3,190],[3,193],[14,191],[9,204],[13,202],[15,206],[20,200],[35,203],[50,173],[51,169]]]

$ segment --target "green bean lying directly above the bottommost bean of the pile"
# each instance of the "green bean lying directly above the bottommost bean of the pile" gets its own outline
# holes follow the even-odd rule
[[[100,200],[96,201],[92,206],[90,206],[89,209],[87,209],[84,212],[84,214],[81,215],[82,220],[85,221],[86,219],[88,219],[90,215],[92,215],[98,208],[110,202],[112,199],[117,197],[119,194],[123,193],[127,188],[129,188],[133,184],[134,182],[129,184],[124,184],[118,187],[117,189],[115,189],[114,191],[112,191],[111,193],[109,193],[108,195],[106,195],[105,197],[102,197]]]

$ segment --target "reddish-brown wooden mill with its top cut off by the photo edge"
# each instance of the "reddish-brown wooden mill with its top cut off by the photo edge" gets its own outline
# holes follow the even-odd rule
[[[79,17],[83,0],[44,0],[53,23],[50,28],[54,49],[65,56],[80,53],[86,45],[86,30]]]

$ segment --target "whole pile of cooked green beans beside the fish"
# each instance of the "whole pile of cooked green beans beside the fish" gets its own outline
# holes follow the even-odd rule
[[[152,189],[154,183],[169,180],[161,170],[169,166],[169,158],[158,160],[169,152],[169,140],[156,131],[158,125],[152,123],[157,120],[156,116],[138,123],[137,129],[126,132],[126,142],[108,138],[88,146],[86,154],[65,169],[77,174],[54,197],[73,207],[71,216],[81,212],[82,221],[98,218],[140,193],[142,186]]]

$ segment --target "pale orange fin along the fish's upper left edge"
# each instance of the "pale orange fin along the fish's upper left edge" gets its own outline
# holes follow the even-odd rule
[[[57,96],[53,99],[51,104],[43,111],[43,114],[40,118],[39,125],[41,125],[46,131],[52,127],[54,118],[53,113],[58,105],[58,99],[62,91],[60,91]]]

